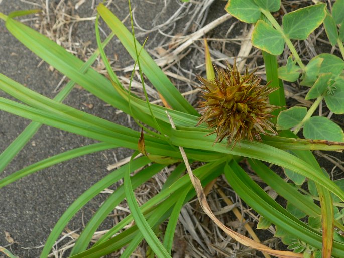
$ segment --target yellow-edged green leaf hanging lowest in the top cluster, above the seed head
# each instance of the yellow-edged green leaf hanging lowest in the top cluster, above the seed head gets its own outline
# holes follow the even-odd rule
[[[284,49],[282,33],[259,20],[252,33],[252,45],[272,55],[280,55]]]

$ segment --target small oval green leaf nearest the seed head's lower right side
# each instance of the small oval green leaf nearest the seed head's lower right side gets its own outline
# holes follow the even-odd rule
[[[277,127],[280,130],[287,130],[299,124],[307,114],[307,108],[302,106],[293,106],[283,110],[277,117]]]

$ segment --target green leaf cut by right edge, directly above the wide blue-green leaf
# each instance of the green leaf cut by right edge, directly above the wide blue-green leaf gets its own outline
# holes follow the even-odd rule
[[[335,114],[344,114],[344,78],[336,78],[333,89],[325,96],[329,110]]]

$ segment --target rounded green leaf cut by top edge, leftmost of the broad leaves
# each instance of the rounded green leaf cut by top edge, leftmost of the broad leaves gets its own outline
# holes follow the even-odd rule
[[[255,23],[261,16],[259,6],[253,0],[229,0],[225,10],[245,23]]]

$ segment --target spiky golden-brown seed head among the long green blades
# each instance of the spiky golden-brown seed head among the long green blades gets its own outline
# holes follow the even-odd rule
[[[261,140],[260,134],[275,133],[274,124],[269,121],[271,112],[277,108],[269,104],[268,95],[276,88],[260,85],[261,78],[254,75],[257,71],[241,75],[234,61],[233,67],[227,63],[225,70],[216,68],[215,80],[197,76],[201,82],[199,102],[201,117],[197,125],[206,122],[216,134],[214,142],[228,139],[228,145],[235,146],[240,139]]]

